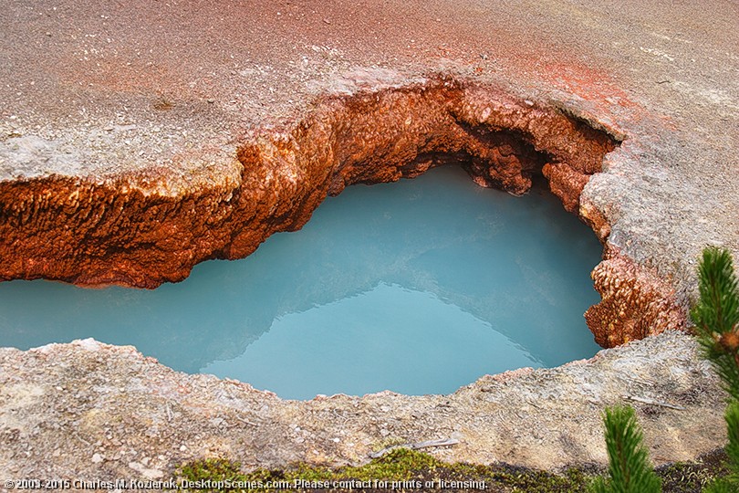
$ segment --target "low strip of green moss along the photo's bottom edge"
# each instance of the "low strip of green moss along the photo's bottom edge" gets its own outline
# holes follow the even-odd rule
[[[657,473],[662,477],[665,491],[681,493],[699,492],[713,477],[725,472],[721,451],[703,456],[696,463],[675,464],[661,467]],[[593,474],[581,469],[567,469],[562,474],[511,467],[501,464],[474,466],[471,464],[449,464],[422,452],[399,448],[385,456],[374,459],[359,467],[327,467],[296,464],[285,469],[256,469],[242,472],[241,465],[224,458],[194,461],[178,469],[182,481],[201,481],[203,488],[184,491],[344,491],[334,482],[356,481],[354,492],[394,491],[401,493],[420,491],[489,491],[505,493],[580,493],[585,491]],[[210,485],[205,482],[210,480]],[[243,488],[225,488],[226,481],[232,485],[241,482]],[[386,481],[382,485],[380,481]],[[392,483],[396,482],[395,485]],[[484,483],[484,488],[463,488],[464,481],[474,481],[474,487]],[[266,488],[267,485],[282,485],[282,488]],[[218,485],[221,483],[221,485]],[[262,485],[262,488],[259,488]],[[426,488],[426,485],[433,485]],[[439,488],[441,485],[447,488]],[[454,488],[454,486],[458,488]],[[296,488],[298,486],[298,488]],[[380,488],[384,486],[384,488]],[[251,487],[251,488],[250,488]],[[333,487],[333,488],[332,488]],[[393,488],[394,487],[394,488]]]

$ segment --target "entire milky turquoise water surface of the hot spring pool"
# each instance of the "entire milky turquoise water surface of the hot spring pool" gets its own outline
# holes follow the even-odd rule
[[[600,246],[557,199],[455,167],[349,187],[301,231],[155,290],[0,283],[0,345],[93,337],[183,372],[317,393],[451,393],[484,373],[598,351]]]

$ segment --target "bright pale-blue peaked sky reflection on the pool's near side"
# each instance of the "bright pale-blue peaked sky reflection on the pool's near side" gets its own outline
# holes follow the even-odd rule
[[[310,398],[316,390],[309,389],[317,388],[449,393],[484,373],[542,364],[456,305],[380,282],[357,296],[276,319],[244,354],[203,372],[259,375],[265,388]]]

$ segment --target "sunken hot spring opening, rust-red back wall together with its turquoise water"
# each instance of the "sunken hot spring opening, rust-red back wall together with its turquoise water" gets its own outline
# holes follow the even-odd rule
[[[4,185],[0,233],[25,238],[13,257],[45,262],[0,278],[156,289],[2,283],[3,345],[132,344],[297,399],[451,393],[587,358],[598,345],[582,314],[598,303],[589,273],[609,227],[580,194],[617,144],[554,106],[441,78],[327,97],[292,129],[249,132],[237,184],[184,196]],[[415,179],[383,184],[401,178]],[[54,202],[72,191],[74,204]],[[41,192],[52,198],[26,214]],[[118,212],[89,214],[100,203]],[[46,241],[62,227],[48,217],[70,208]]]

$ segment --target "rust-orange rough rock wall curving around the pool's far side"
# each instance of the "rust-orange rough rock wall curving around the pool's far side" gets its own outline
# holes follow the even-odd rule
[[[299,229],[350,184],[397,181],[444,163],[512,194],[543,173],[605,244],[608,219],[580,195],[618,145],[614,133],[554,105],[441,76],[325,96],[291,128],[247,132],[234,150],[237,183],[152,193],[155,170],[101,183],[55,175],[0,183],[0,279],[156,288],[203,260],[246,257],[273,233]],[[603,301],[587,320],[598,343],[684,325],[669,286],[613,251],[594,270]]]

